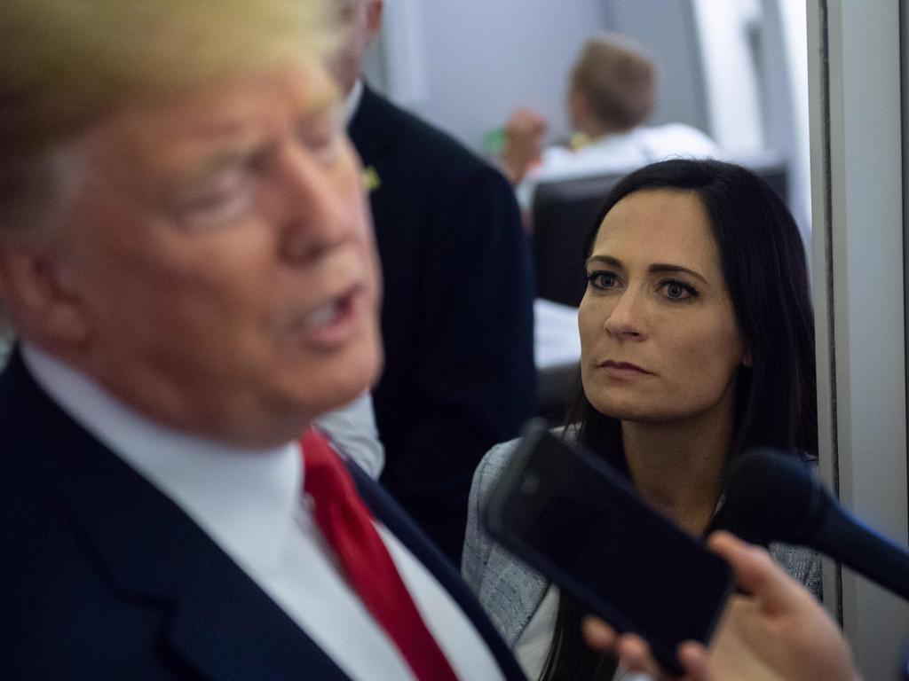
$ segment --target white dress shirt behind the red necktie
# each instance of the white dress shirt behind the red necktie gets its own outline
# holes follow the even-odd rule
[[[146,419],[40,350],[24,345],[23,359],[73,419],[182,508],[347,676],[414,678],[347,585],[315,526],[302,494],[298,443],[246,450],[189,436]],[[454,599],[391,532],[375,524],[455,674],[501,679],[492,653]]]

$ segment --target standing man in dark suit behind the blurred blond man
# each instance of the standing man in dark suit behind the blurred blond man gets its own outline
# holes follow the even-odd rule
[[[382,481],[459,564],[474,469],[534,413],[528,243],[500,173],[359,79],[382,1],[335,3],[347,35],[333,70],[385,279]]]

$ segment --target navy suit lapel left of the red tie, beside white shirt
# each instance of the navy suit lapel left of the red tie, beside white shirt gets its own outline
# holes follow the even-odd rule
[[[0,422],[112,590],[170,612],[172,655],[211,679],[347,679],[180,508],[60,410],[18,352],[0,377]]]

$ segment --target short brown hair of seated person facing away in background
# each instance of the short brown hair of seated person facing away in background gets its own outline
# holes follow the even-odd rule
[[[584,44],[571,86],[584,95],[600,123],[630,130],[644,123],[656,102],[656,66],[623,35],[605,33]]]

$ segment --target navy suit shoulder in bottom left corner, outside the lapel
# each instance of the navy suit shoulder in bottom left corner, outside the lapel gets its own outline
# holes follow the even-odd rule
[[[119,597],[53,496],[0,451],[0,649],[9,678],[190,678],[148,646],[153,604]]]

